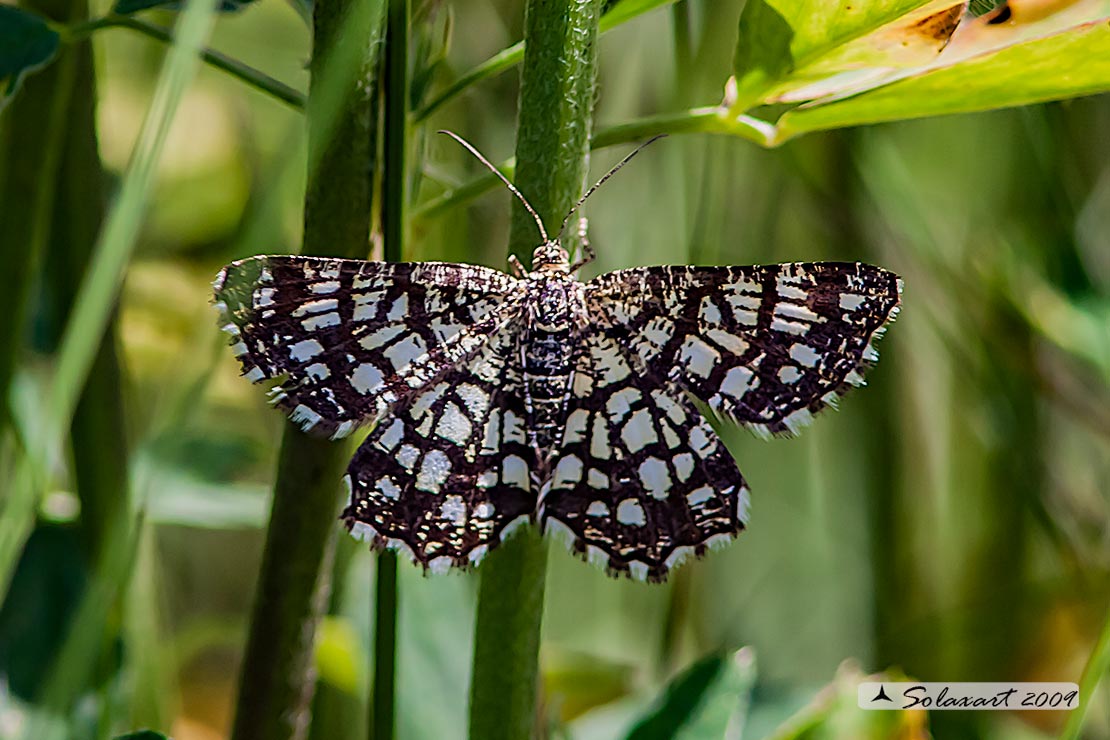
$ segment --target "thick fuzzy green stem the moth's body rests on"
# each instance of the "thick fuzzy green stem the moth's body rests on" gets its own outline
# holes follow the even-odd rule
[[[525,11],[516,184],[547,224],[582,193],[597,72],[597,0],[529,0]],[[527,254],[536,226],[514,204],[509,250]],[[471,738],[534,734],[546,543],[525,530],[482,567],[471,677]]]

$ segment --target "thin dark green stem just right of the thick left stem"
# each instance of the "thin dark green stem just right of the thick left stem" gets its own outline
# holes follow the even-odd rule
[[[405,253],[408,227],[408,39],[410,0],[390,0],[383,69],[382,251],[387,262]],[[374,685],[371,740],[393,740],[397,633],[397,557],[377,556],[374,592]]]

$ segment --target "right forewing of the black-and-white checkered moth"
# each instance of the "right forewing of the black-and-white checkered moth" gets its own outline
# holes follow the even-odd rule
[[[901,281],[860,263],[638,267],[586,286],[619,346],[723,416],[790,434],[864,383]]]

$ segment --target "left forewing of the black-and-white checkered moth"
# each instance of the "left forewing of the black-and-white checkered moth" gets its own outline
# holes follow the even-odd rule
[[[523,290],[475,265],[258,256],[213,283],[243,374],[281,378],[273,403],[342,437],[473,356],[519,314]]]

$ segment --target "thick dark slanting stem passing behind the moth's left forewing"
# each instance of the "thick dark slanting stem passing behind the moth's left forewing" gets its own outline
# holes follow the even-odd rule
[[[321,0],[313,9],[309,185],[304,253],[365,256],[371,219],[372,3]],[[314,688],[315,626],[335,547],[345,445],[285,426],[234,740],[305,737]]]

